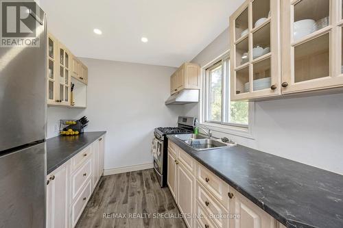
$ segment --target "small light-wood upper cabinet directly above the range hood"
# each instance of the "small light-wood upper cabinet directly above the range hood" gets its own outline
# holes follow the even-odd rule
[[[170,94],[184,89],[200,89],[200,66],[185,63],[170,77]]]

